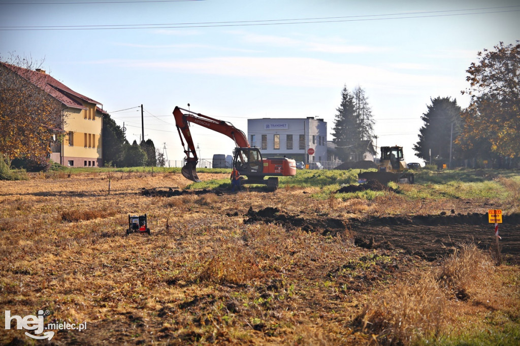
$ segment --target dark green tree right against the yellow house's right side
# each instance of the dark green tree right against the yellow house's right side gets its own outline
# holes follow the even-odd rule
[[[108,163],[116,167],[124,166],[125,148],[128,141],[123,129],[115,123],[109,114],[103,116],[101,139],[103,141],[103,166]]]

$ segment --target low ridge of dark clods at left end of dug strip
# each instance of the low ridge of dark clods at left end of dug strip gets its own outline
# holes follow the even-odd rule
[[[337,235],[344,233],[347,226],[344,220],[336,218],[303,218],[301,216],[290,215],[281,212],[278,208],[267,207],[254,211],[249,208],[249,211],[244,215],[245,224],[252,224],[257,222],[278,224],[288,230],[301,228],[306,232],[320,232],[322,235]]]

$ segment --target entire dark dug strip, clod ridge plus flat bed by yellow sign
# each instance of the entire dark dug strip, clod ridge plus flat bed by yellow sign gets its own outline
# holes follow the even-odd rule
[[[444,213],[443,213],[444,214]],[[228,215],[237,216],[237,214]],[[413,217],[338,218],[291,215],[267,207],[244,215],[245,224],[279,224],[286,229],[301,228],[323,235],[354,234],[354,244],[363,248],[401,249],[429,261],[445,258],[466,243],[495,251],[495,227],[486,214],[426,215]],[[499,225],[503,260],[520,264],[520,214],[504,216]]]

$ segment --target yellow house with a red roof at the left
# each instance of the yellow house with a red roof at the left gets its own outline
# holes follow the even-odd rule
[[[101,131],[103,127],[102,104],[76,92],[51,77],[44,70],[23,69],[0,62],[20,77],[42,88],[62,107],[63,140],[54,139],[50,144],[50,158],[69,167],[100,167],[102,165]],[[101,107],[99,107],[101,106]]]

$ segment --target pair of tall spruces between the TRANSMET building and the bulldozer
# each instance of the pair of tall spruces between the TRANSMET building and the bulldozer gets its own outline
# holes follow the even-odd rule
[[[344,86],[336,111],[332,135],[337,154],[342,161],[349,161],[351,157],[357,160],[367,149],[366,140],[373,136],[374,121],[365,90],[358,86],[350,92]]]

